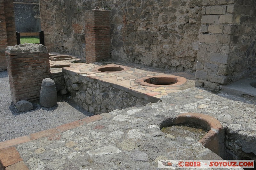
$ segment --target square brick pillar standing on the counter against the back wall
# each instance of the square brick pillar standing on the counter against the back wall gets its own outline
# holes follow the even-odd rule
[[[85,18],[86,63],[110,58],[110,11],[86,11]]]

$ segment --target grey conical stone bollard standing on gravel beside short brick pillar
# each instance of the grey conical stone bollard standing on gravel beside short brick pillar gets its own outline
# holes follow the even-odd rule
[[[43,79],[39,102],[43,107],[52,107],[57,104],[57,91],[51,78]]]

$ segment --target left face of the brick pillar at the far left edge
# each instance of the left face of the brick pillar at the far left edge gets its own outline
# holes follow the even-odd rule
[[[4,0],[0,0],[0,71],[6,70],[5,48],[7,44],[6,23],[4,14]]]

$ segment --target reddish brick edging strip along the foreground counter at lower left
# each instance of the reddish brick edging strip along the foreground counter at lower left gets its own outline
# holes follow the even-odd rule
[[[25,165],[22,158],[20,157],[20,154],[15,148],[15,145],[26,143],[31,140],[36,140],[42,137],[50,137],[52,135],[56,135],[58,133],[67,131],[69,129],[73,129],[78,126],[84,125],[85,123],[95,122],[101,119],[102,119],[102,116],[94,115],[94,116],[87,117],[75,122],[66,123],[56,128],[32,133],[29,136],[18,137],[15,139],[1,142],[0,143],[0,170],[28,170],[28,167]]]

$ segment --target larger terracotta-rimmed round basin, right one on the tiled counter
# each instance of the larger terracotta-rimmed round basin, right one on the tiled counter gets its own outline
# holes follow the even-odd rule
[[[182,85],[187,82],[187,79],[180,76],[174,75],[159,75],[143,77],[135,80],[136,83],[140,85],[150,86],[150,87],[160,87],[160,86],[176,86]]]

